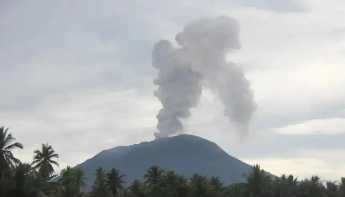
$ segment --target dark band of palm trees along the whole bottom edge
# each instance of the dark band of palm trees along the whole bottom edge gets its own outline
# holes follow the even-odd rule
[[[143,175],[144,181],[135,180],[125,187],[125,174],[117,168],[104,171],[96,169],[92,191],[85,188],[84,171],[67,166],[56,177],[53,159],[59,158],[52,146],[42,144],[35,150],[31,164],[21,163],[12,154],[23,145],[8,129],[0,128],[0,197],[345,197],[345,177],[339,182],[321,181],[318,176],[298,181],[293,175],[272,179],[259,165],[243,174],[244,183],[225,186],[217,177],[194,174],[183,177],[159,166],[150,167]]]

